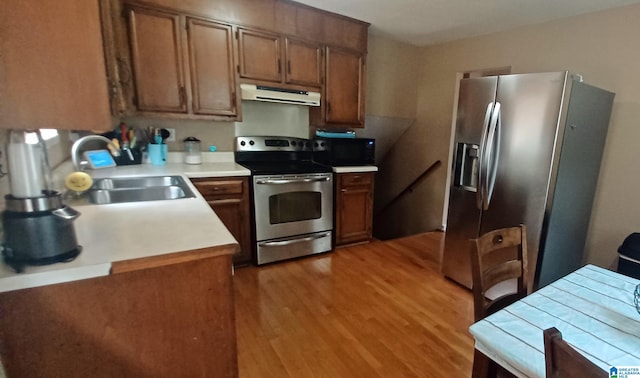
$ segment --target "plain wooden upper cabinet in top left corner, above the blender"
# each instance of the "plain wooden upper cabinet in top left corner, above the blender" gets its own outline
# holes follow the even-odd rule
[[[0,125],[108,130],[97,0],[0,1]]]

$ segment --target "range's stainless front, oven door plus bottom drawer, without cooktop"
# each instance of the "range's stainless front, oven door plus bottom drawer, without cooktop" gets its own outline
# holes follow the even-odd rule
[[[253,178],[257,263],[331,250],[333,175]]]

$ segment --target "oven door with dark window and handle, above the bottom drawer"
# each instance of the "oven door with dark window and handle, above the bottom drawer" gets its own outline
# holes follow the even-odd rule
[[[256,240],[333,229],[333,174],[255,176]]]

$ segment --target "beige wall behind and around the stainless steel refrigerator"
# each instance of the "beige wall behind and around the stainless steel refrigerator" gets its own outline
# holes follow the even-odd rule
[[[513,73],[580,73],[586,82],[616,92],[586,246],[588,262],[613,266],[624,237],[640,229],[640,175],[631,168],[640,161],[639,19],[640,5],[633,5],[423,48],[417,121],[399,141],[405,148],[394,149],[390,169],[403,177],[414,171],[408,161],[440,159],[448,165],[460,72],[510,66]],[[440,227],[446,171],[438,170],[433,185],[404,209],[411,232]]]

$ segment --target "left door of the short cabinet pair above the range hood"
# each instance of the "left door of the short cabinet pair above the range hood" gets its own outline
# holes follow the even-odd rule
[[[238,29],[240,77],[282,82],[280,37],[277,34]]]

